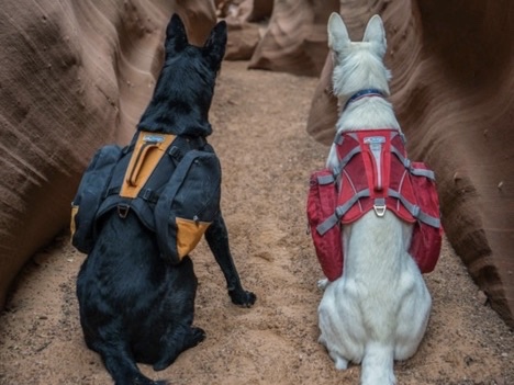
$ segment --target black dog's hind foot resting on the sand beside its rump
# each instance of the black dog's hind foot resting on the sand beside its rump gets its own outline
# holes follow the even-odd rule
[[[205,339],[201,328],[189,325],[172,326],[169,335],[164,339],[160,359],[154,364],[154,371],[161,371],[171,365],[177,356],[189,348],[193,348]]]

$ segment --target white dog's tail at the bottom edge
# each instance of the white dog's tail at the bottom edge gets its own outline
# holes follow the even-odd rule
[[[362,359],[361,385],[394,385],[394,349],[382,343],[369,342]]]

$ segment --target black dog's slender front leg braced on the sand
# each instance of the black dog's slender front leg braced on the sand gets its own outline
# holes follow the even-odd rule
[[[234,304],[250,307],[254,305],[256,296],[252,292],[247,292],[241,284],[239,274],[234,264],[234,259],[231,254],[228,245],[228,231],[226,230],[225,220],[221,213],[205,231],[205,240],[214,254],[214,258],[225,275],[228,295]]]

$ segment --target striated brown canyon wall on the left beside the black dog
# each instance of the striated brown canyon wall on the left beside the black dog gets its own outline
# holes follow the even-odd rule
[[[68,223],[93,151],[131,138],[172,12],[194,44],[216,22],[204,0],[2,2],[0,308],[21,267]]]

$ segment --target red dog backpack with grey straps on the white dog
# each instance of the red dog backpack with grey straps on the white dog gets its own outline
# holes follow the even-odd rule
[[[443,237],[434,172],[409,160],[403,136],[393,129],[344,133],[335,143],[339,165],[311,175],[308,197],[310,230],[326,278],[343,274],[340,226],[370,210],[379,217],[389,210],[414,224],[409,252],[422,273],[432,272]]]

